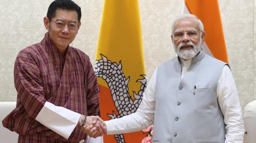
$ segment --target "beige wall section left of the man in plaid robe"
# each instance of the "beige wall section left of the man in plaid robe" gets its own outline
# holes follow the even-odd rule
[[[49,1],[0,1],[0,101],[16,101],[13,67],[18,52],[42,40]]]

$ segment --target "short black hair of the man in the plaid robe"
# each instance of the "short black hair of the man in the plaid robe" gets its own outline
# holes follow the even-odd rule
[[[63,9],[68,11],[76,11],[78,14],[78,22],[81,20],[81,7],[79,7],[75,2],[71,0],[55,0],[50,4],[48,11],[47,11],[47,17],[48,19],[52,20],[52,18],[56,14],[57,9]]]

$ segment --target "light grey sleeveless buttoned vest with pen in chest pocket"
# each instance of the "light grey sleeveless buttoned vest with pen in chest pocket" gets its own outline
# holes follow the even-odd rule
[[[224,117],[216,97],[225,64],[202,51],[182,80],[178,57],[158,66],[153,143],[225,142]]]

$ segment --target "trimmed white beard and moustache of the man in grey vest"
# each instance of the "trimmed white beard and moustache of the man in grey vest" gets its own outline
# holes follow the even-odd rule
[[[191,41],[189,41],[189,42],[181,42],[179,44],[179,46],[177,47],[174,44],[173,40],[172,40],[172,44],[173,44],[174,50],[177,53],[177,55],[184,60],[188,60],[188,59],[195,57],[200,52],[201,45],[202,45],[202,38],[200,38],[200,41],[198,42],[197,45],[195,45]],[[192,46],[193,49],[189,49],[189,50],[180,49],[184,45]]]

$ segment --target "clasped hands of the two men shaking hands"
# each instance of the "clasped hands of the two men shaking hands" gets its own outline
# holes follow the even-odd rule
[[[99,116],[87,116],[84,126],[80,127],[80,130],[86,133],[88,136],[97,138],[103,134],[107,134],[107,126],[105,122]],[[78,121],[80,124],[82,121],[82,115]]]

